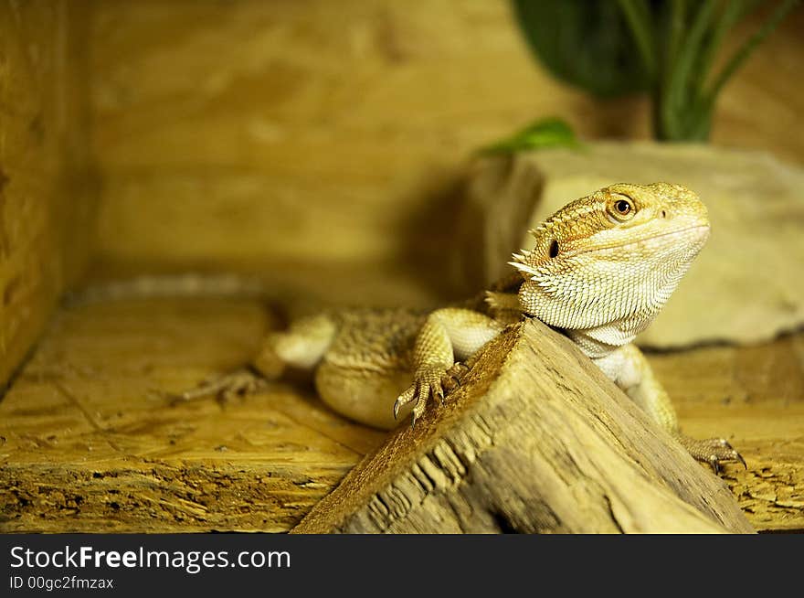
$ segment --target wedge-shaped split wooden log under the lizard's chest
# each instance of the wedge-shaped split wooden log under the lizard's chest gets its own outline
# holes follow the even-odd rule
[[[403,426],[293,529],[750,532],[693,461],[564,336],[494,340],[439,408]]]

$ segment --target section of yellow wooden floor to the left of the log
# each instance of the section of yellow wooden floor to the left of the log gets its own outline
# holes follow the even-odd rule
[[[0,403],[4,531],[284,531],[384,434],[303,385],[171,406],[238,368],[272,323],[254,301],[62,311]]]

